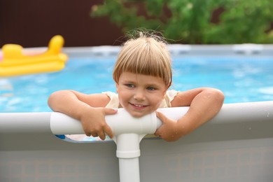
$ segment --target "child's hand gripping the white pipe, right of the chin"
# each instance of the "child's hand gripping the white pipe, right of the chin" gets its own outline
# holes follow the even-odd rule
[[[176,141],[183,137],[183,127],[176,122],[167,118],[163,113],[156,111],[156,116],[162,121],[163,125],[155,131],[155,135],[165,141]]]

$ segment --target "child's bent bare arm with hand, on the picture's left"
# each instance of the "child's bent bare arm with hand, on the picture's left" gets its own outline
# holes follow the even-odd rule
[[[64,113],[80,120],[87,136],[105,139],[105,133],[113,137],[105,116],[115,114],[115,109],[104,108],[110,101],[106,94],[83,94],[73,90],[54,92],[48,98],[48,106],[56,112]]]

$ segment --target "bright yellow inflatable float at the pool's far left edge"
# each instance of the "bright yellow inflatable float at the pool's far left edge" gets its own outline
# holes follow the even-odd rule
[[[60,71],[64,68],[68,58],[61,52],[63,45],[64,38],[59,35],[53,36],[48,44],[48,50],[39,55],[23,55],[21,45],[3,45],[0,76]]]

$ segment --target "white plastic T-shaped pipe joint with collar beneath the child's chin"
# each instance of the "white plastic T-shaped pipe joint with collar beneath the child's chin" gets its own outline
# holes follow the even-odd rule
[[[118,158],[138,158],[140,156],[139,142],[146,134],[153,134],[158,127],[155,112],[134,118],[119,109],[118,114],[106,116],[106,123],[111,127],[113,141],[117,144],[116,155]]]

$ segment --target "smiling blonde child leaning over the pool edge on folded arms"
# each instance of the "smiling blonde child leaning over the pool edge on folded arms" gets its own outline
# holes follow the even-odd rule
[[[53,111],[80,120],[87,136],[102,140],[106,134],[113,137],[105,116],[116,114],[117,108],[124,108],[133,117],[140,118],[162,107],[190,106],[179,120],[156,112],[163,125],[155,136],[166,141],[176,141],[193,132],[216,116],[223,105],[223,93],[214,88],[168,90],[172,85],[169,50],[161,36],[147,32],[140,31],[137,38],[123,45],[113,69],[113,80],[117,93],[84,94],[61,90],[50,95],[48,105]]]

